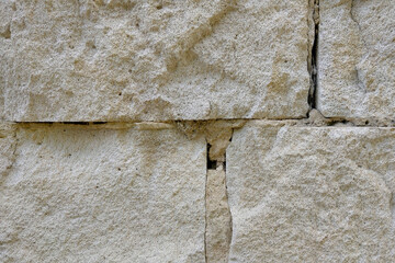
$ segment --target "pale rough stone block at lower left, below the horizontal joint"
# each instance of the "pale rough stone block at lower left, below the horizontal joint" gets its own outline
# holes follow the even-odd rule
[[[1,262],[204,262],[204,138],[78,126],[18,138]]]

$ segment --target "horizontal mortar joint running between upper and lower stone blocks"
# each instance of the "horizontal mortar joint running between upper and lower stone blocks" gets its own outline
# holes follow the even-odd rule
[[[326,117],[317,108],[311,108],[308,117],[304,118],[234,118],[234,119],[206,119],[206,121],[163,121],[163,122],[14,122],[23,128],[37,128],[37,127],[80,127],[83,126],[89,129],[140,129],[140,130],[154,130],[154,129],[178,129],[184,134],[189,139],[194,139],[199,135],[205,135],[211,140],[215,140],[215,136],[218,136],[224,130],[242,127],[247,122],[266,122],[272,123],[289,123],[292,126],[305,126],[305,127],[325,127],[348,125],[353,127],[395,127],[395,119],[392,118],[377,118],[377,117]],[[215,129],[213,127],[216,127]],[[223,130],[223,132],[221,132]],[[210,135],[210,134],[213,135]],[[229,135],[229,133],[227,133]],[[226,138],[225,138],[226,137]],[[229,144],[228,138],[230,136],[221,136],[217,139],[222,140],[226,147]],[[224,157],[224,149],[226,147],[219,146],[219,142],[207,141],[210,151],[212,155],[218,155]],[[213,160],[216,159],[212,158]]]

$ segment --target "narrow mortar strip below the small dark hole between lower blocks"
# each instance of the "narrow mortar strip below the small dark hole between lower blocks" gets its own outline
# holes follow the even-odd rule
[[[225,263],[228,262],[232,218],[223,164],[207,170],[206,185],[206,263]]]

